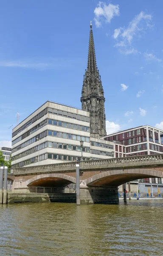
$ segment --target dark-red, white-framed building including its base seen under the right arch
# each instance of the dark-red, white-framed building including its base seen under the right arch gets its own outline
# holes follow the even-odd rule
[[[114,157],[163,154],[163,130],[150,125],[109,134],[104,137],[104,140],[114,143]],[[135,184],[134,190],[138,188],[141,192],[148,192],[149,187],[154,192],[158,188],[163,191],[163,185],[161,185],[163,184],[163,179],[161,180],[161,178],[145,178],[134,180],[131,183]]]

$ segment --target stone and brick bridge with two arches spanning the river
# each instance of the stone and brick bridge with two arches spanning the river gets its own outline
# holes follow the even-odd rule
[[[135,179],[160,177],[163,183],[163,154],[82,161],[81,203],[116,203],[118,186]],[[58,163],[14,169],[8,178],[13,189],[59,187],[76,183],[76,163]]]

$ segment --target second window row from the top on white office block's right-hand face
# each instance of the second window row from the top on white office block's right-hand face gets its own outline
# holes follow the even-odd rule
[[[90,131],[89,127],[85,127],[85,126],[82,126],[82,125],[75,125],[75,124],[62,122],[62,121],[57,121],[57,120],[52,120],[52,119],[48,119],[48,124],[49,125],[57,125],[57,126],[60,126],[60,127],[70,128],[70,129],[79,130],[79,131],[87,131],[87,132]]]

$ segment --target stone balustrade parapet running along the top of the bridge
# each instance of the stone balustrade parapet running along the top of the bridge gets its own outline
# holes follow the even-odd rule
[[[82,161],[80,169],[125,169],[125,168],[140,168],[144,166],[160,166],[163,165],[163,154],[136,156],[136,157],[121,157],[109,158],[104,160],[89,160]],[[13,170],[13,175],[29,175],[35,173],[51,173],[51,172],[68,172],[75,171],[76,163],[56,163],[44,166],[22,167]]]

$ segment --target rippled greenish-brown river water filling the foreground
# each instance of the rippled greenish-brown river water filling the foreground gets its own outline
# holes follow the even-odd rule
[[[1,256],[163,256],[163,200],[0,206]]]

